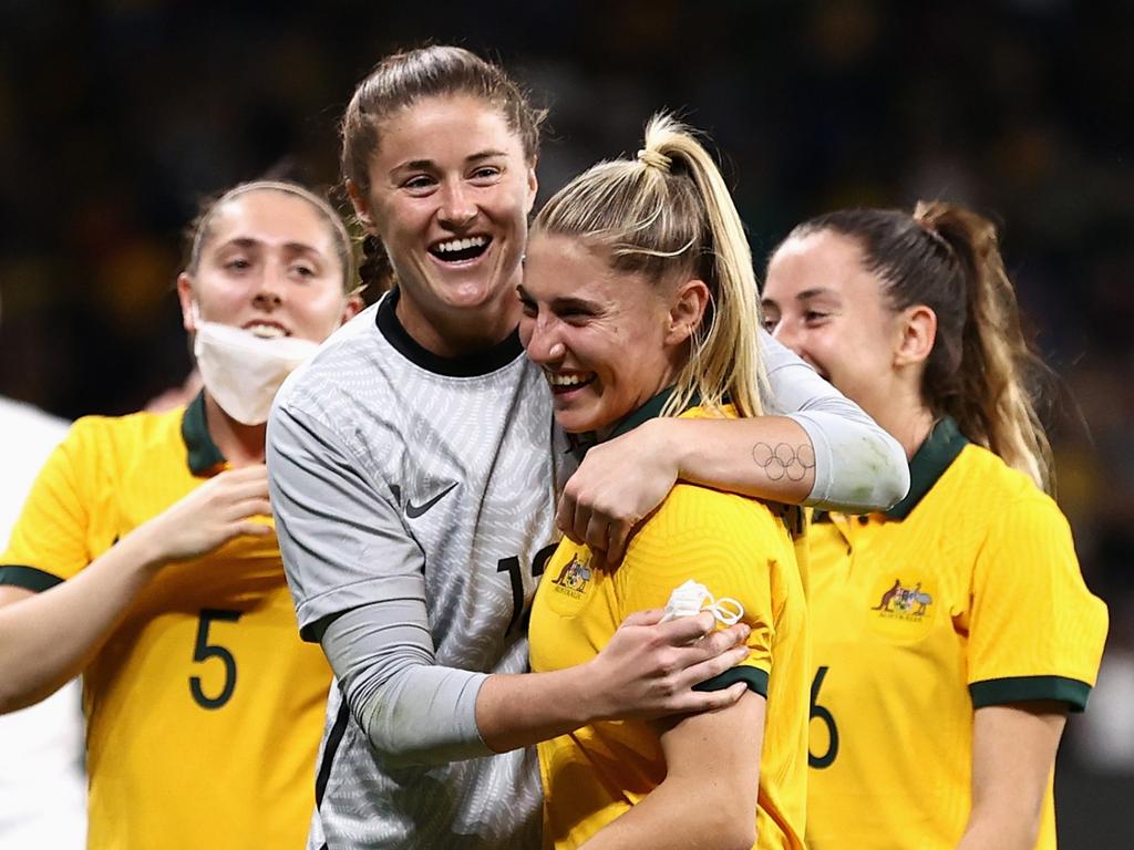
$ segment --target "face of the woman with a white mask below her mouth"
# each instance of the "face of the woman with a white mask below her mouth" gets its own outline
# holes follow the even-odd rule
[[[342,291],[338,235],[312,204],[274,189],[232,197],[209,218],[196,269],[177,281],[185,330],[201,320],[261,337],[322,342],[357,311]]]

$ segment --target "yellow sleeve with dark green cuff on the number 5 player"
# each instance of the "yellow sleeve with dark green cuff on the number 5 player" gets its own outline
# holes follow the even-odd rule
[[[91,561],[87,545],[98,440],[79,419],[43,465],[0,555],[0,585],[42,592]]]

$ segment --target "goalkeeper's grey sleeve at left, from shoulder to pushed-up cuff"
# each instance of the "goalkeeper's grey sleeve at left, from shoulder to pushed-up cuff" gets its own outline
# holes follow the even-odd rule
[[[476,730],[483,673],[437,665],[424,555],[355,453],[277,403],[268,471],[284,569],[306,640],[321,640],[358,725],[392,764],[490,753]]]

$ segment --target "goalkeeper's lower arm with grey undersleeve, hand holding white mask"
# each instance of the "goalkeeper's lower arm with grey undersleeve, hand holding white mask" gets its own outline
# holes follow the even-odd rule
[[[596,720],[731,705],[743,686],[693,686],[745,657],[747,626],[714,629],[708,614],[659,624],[660,618],[661,611],[633,614],[595,658],[547,673],[439,665],[420,598],[352,609],[320,639],[375,751],[396,766],[434,765],[530,746]]]

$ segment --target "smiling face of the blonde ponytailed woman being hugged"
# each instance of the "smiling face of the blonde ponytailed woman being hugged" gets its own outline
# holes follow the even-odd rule
[[[615,271],[600,252],[570,237],[532,238],[519,287],[519,337],[543,368],[565,431],[606,436],[672,384],[700,321],[700,313],[684,311],[682,294],[691,284],[704,288]]]

